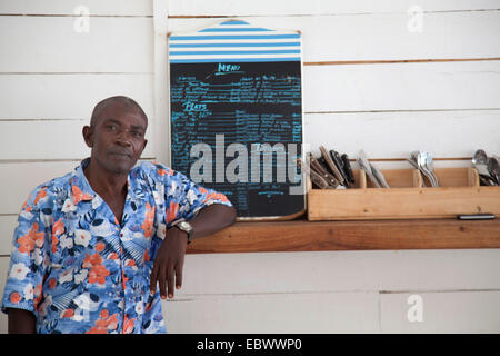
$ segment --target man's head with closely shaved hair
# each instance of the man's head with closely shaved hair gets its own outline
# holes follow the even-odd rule
[[[148,118],[141,107],[127,97],[100,101],[92,111],[83,138],[91,160],[113,174],[128,174],[140,158],[147,140]]]

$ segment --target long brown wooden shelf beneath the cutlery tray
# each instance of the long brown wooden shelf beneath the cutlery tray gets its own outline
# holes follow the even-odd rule
[[[500,219],[236,222],[194,240],[188,254],[500,248]]]

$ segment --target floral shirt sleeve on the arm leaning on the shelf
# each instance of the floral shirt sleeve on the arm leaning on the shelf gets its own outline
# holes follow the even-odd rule
[[[232,207],[224,194],[204,188],[193,182],[186,175],[168,167],[159,168],[159,175],[164,177],[164,201],[167,208],[167,228],[179,220],[189,220],[199,210],[212,204]]]

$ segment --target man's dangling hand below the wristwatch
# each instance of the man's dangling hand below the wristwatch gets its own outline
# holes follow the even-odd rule
[[[160,296],[162,299],[173,298],[173,285],[177,289],[182,286],[182,267],[184,265],[186,248],[188,246],[188,234],[177,227],[167,230],[167,236],[161,243],[154,258],[149,288],[151,294],[157,290],[157,283],[160,284]]]

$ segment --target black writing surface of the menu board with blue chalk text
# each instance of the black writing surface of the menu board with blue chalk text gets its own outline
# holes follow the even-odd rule
[[[203,185],[226,194],[242,217],[302,210],[303,196],[290,196],[290,182],[277,180],[289,159],[301,156],[300,61],[172,63],[170,76],[172,168],[189,176],[193,164],[200,166],[198,174],[208,178]],[[216,136],[220,135],[224,147],[217,149]],[[244,146],[248,167],[234,164],[237,154],[224,155],[234,142]],[[190,157],[191,148],[198,144],[214,154],[214,165],[202,158],[203,150],[200,156]],[[290,151],[292,146],[299,149]],[[238,147],[239,150],[230,151],[243,150]],[[222,155],[218,156],[218,151]],[[229,167],[229,181],[223,174],[217,176],[218,165],[222,172]],[[290,178],[293,174],[300,180],[297,171],[284,176]],[[241,182],[238,177],[249,178]]]

